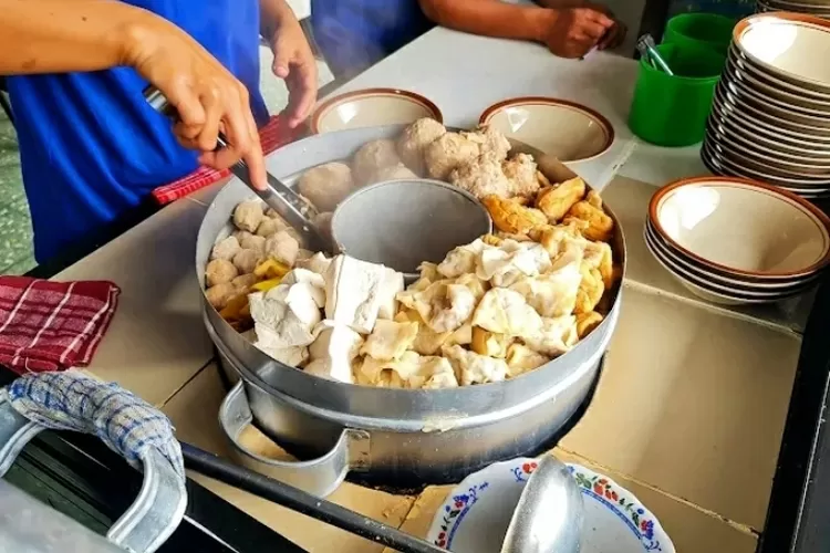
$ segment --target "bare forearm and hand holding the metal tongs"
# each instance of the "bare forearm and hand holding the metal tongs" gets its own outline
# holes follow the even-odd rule
[[[178,109],[174,132],[183,145],[217,168],[241,157],[253,182],[266,186],[248,91],[175,24],[111,0],[0,0],[0,74],[132,66]],[[220,125],[232,147],[215,153]]]

